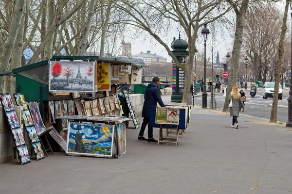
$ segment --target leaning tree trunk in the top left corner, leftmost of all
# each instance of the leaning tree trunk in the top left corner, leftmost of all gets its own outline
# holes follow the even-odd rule
[[[2,45],[0,50],[3,51],[2,57],[0,57],[0,69],[8,70],[9,61],[13,51],[13,47],[20,27],[21,18],[23,15],[25,0],[16,0],[15,11],[12,17],[11,26],[8,33],[8,38]],[[0,86],[3,84],[4,76],[0,77]],[[3,92],[3,87],[0,87],[0,93]]]

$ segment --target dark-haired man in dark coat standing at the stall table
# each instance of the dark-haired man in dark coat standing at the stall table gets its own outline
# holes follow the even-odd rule
[[[139,132],[138,140],[148,141],[148,142],[157,142],[153,138],[153,128],[149,125],[150,122],[150,107],[156,107],[157,102],[161,107],[165,107],[159,93],[159,78],[154,77],[152,82],[148,84],[148,87],[145,91],[145,100],[142,110],[142,117],[143,123],[141,126],[141,130]],[[148,139],[144,137],[144,131],[146,128],[146,125],[148,125]]]

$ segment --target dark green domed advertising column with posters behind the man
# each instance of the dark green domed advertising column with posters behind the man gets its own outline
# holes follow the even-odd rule
[[[175,37],[173,38],[171,48],[173,49],[171,52],[174,56],[176,56],[179,62],[182,65],[186,65],[187,57],[189,56],[189,52],[186,50],[188,48],[188,44],[186,41],[181,39],[181,34],[179,34],[179,39],[175,39]],[[182,102],[184,86],[185,72],[172,61],[172,102]]]

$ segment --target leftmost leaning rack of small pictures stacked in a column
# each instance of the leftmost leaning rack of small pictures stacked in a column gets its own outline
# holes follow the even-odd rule
[[[2,103],[9,127],[12,132],[13,140],[18,151],[21,164],[31,162],[27,146],[25,145],[22,129],[20,128],[19,120],[13,105],[10,94],[0,94]]]

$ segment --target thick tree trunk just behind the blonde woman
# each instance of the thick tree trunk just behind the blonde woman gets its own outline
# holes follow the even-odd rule
[[[238,64],[239,64],[239,56],[241,56],[241,45],[242,45],[242,35],[243,35],[243,27],[244,27],[244,15],[246,13],[248,7],[249,0],[242,0],[240,10],[236,10],[236,31],[234,37],[234,44],[232,49],[232,59],[230,64],[230,74],[229,81],[226,90],[225,102],[223,107],[223,112],[227,112],[229,107],[228,97],[229,93],[232,90],[232,87],[236,85],[237,74],[238,74]]]

